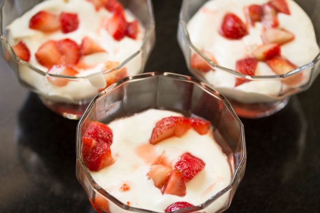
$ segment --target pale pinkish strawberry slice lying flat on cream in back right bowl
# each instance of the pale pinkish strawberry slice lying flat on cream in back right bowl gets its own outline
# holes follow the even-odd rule
[[[262,34],[262,40],[265,43],[285,44],[294,39],[294,34],[278,28],[265,30]]]

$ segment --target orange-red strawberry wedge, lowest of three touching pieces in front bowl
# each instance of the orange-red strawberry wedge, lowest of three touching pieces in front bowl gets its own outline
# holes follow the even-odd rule
[[[164,185],[162,193],[177,195],[180,197],[184,197],[186,195],[187,188],[183,175],[180,171],[172,171],[168,181]]]

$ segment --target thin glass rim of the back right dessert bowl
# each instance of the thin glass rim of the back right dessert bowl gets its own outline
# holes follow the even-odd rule
[[[248,80],[278,80],[278,79],[286,79],[289,78],[292,75],[295,75],[297,73],[302,73],[304,70],[313,67],[318,61],[320,61],[320,52],[317,54],[317,56],[315,57],[314,60],[312,60],[309,63],[306,63],[302,66],[299,66],[295,69],[292,69],[291,71],[289,71],[286,74],[282,74],[282,75],[259,75],[259,76],[251,76],[251,75],[245,75],[242,74],[240,72],[237,72],[233,69],[229,69],[226,68],[224,66],[220,66],[219,64],[214,63],[213,61],[211,61],[210,59],[208,59],[198,48],[196,48],[193,44],[192,41],[190,39],[190,35],[189,32],[187,30],[187,23],[185,22],[185,11],[186,11],[186,7],[188,4],[188,1],[190,0],[183,0],[182,2],[182,6],[181,6],[181,10],[180,10],[180,14],[179,14],[179,25],[182,28],[182,31],[184,33],[184,36],[187,40],[188,45],[192,48],[193,51],[195,51],[203,60],[205,60],[212,69],[214,68],[219,68],[225,72],[228,72],[236,77],[241,77],[241,78],[245,78]]]

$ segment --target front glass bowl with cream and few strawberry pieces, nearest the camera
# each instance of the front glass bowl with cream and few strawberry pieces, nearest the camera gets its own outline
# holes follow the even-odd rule
[[[152,130],[153,127],[156,122],[158,126],[161,118],[163,120],[170,115],[184,116],[187,121],[190,117],[201,118],[210,123],[211,127],[207,129],[207,133],[202,132],[204,135],[200,135],[191,128],[185,135],[162,138],[163,141],[155,142],[154,139],[157,137],[151,139],[151,133],[155,131]],[[104,123],[107,123],[108,127],[105,127]],[[111,150],[111,154],[108,152],[108,157],[101,160],[104,167],[100,167],[101,162],[95,160],[102,159],[100,156],[94,157],[92,161],[87,154],[88,140],[92,141],[96,137],[92,131],[95,125],[104,126],[101,134],[98,135],[106,135],[102,132],[110,133],[111,129],[111,137],[106,137],[107,143],[111,138],[110,146],[97,142],[100,139],[95,138],[93,143],[90,142],[92,146],[89,147],[89,150],[94,150],[96,148],[93,147],[103,144],[108,147],[106,150]],[[206,139],[209,139],[210,148],[203,151],[209,154],[200,153],[200,150],[205,150],[202,147],[204,145],[199,144],[198,149],[191,149],[188,144],[194,145],[194,140],[187,141],[190,137],[197,138],[202,144],[206,144],[208,142]],[[177,144],[181,146],[177,147]],[[215,150],[211,146],[218,149]],[[174,152],[170,151],[173,147]],[[162,148],[166,150],[163,151]],[[145,73],[127,77],[98,94],[78,123],[76,149],[77,179],[85,189],[94,209],[99,213],[164,212],[170,204],[177,201],[192,204],[190,208],[179,212],[220,213],[230,205],[244,175],[246,164],[244,128],[224,96],[192,77],[172,73]],[[203,170],[199,169],[200,172],[198,171],[194,180],[182,181],[184,187],[178,187],[177,194],[174,191],[175,187],[168,186],[172,183],[170,180],[176,171],[169,168],[172,173],[169,177],[165,177],[167,180],[166,183],[162,183],[164,185],[161,189],[161,184],[157,185],[151,175],[150,166],[168,169],[173,164],[167,162],[176,158],[175,156],[172,158],[171,155],[180,156],[183,152],[190,152],[191,155],[196,156],[197,161],[203,160],[201,168]],[[207,157],[212,159],[213,155],[219,155],[222,157],[219,159],[223,160],[208,160]],[[149,159],[150,157],[155,157],[157,163],[154,163],[154,159]],[[126,163],[123,164],[123,162]],[[215,171],[210,171],[210,168],[213,168],[211,167],[213,162],[222,164],[216,165]],[[177,162],[175,168],[177,168]],[[223,168],[228,173],[220,177],[220,172],[224,171]],[[212,175],[216,178],[211,178]],[[204,180],[207,185],[203,188]],[[184,188],[182,194],[181,188]],[[198,190],[200,194],[195,193],[197,189],[200,189],[200,192]],[[169,192],[170,190],[174,192]],[[144,193],[141,194],[139,191]],[[213,194],[210,194],[211,192]],[[192,196],[197,199],[192,199]],[[171,211],[175,210],[171,209]],[[168,212],[167,209],[166,212]]]

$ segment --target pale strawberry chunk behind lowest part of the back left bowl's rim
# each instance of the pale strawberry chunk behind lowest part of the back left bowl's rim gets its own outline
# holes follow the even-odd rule
[[[75,76],[76,74],[78,74],[78,71],[73,69],[71,66],[64,65],[64,64],[57,64],[57,65],[53,65],[48,70],[48,73]],[[58,77],[48,77],[48,81],[58,87],[63,87],[68,83],[67,79],[58,78]]]

